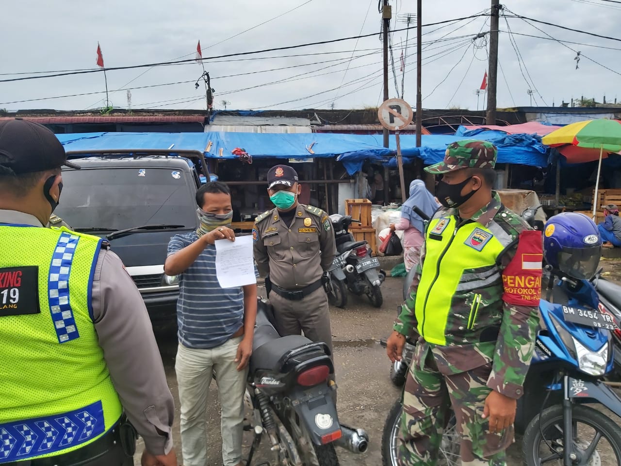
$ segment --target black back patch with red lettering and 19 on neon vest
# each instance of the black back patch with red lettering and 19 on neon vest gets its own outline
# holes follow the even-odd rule
[[[39,313],[39,267],[0,268],[0,317]]]

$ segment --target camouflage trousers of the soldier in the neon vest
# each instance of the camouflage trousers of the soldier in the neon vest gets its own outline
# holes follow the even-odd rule
[[[462,466],[506,465],[505,449],[513,442],[513,427],[491,434],[487,419],[481,417],[491,391],[486,386],[490,372],[491,363],[461,373],[440,373],[428,345],[417,345],[403,395],[401,466],[433,466],[438,455],[455,464],[461,457]],[[453,413],[455,435],[447,435],[443,443]],[[447,443],[450,439],[453,442]]]

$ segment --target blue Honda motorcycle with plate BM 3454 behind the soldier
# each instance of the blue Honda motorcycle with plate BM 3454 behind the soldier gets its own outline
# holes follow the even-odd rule
[[[551,460],[565,466],[621,464],[619,426],[586,406],[601,403],[621,416],[621,398],[601,380],[613,370],[610,331],[615,329],[614,319],[598,305],[590,281],[552,274],[546,299],[539,304],[535,352],[514,424],[515,431],[524,435],[522,449],[528,466]],[[409,365],[410,360],[406,363]],[[392,407],[384,426],[384,466],[397,465],[400,419],[401,400]],[[454,435],[448,427],[449,436]],[[602,438],[608,448],[599,445]],[[451,441],[457,445],[451,447]],[[445,465],[458,464],[454,455],[459,451],[458,442],[458,437],[443,439]],[[610,462],[610,454],[615,455],[616,463]]]

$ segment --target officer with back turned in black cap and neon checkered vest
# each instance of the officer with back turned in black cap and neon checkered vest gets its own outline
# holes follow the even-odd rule
[[[65,150],[0,122],[0,464],[176,466],[175,408],[147,309],[99,237],[45,228]],[[135,426],[135,427],[134,427]]]

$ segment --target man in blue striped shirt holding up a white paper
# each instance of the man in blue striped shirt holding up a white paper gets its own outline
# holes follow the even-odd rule
[[[168,243],[166,275],[178,275],[179,347],[175,362],[185,466],[206,466],[206,401],[212,376],[222,406],[222,462],[242,464],[243,395],[256,318],[256,284],[222,288],[215,273],[215,240],[235,240],[224,183],[196,193],[200,225]]]

